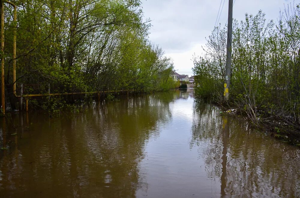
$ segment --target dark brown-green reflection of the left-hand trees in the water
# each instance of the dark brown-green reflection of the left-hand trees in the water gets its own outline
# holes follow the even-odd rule
[[[49,122],[33,118],[30,135],[19,141],[18,159],[1,158],[0,170],[10,170],[0,176],[1,194],[134,197],[138,188],[147,189],[138,170],[145,142],[170,120],[172,100],[173,93],[162,92],[94,104]]]

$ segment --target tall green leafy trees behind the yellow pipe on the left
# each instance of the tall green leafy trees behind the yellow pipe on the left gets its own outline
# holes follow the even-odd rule
[[[172,60],[149,41],[139,0],[15,0],[16,86],[24,94],[169,89]],[[4,3],[6,100],[13,97],[13,10]]]

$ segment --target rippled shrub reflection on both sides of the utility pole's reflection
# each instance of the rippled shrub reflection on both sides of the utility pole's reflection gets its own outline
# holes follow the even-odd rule
[[[227,133],[226,119],[217,112],[216,107],[207,104],[195,107],[190,145],[199,148],[208,176],[220,179],[220,194],[300,197],[300,151],[255,132],[246,122],[231,117]],[[225,167],[223,160],[226,160]]]

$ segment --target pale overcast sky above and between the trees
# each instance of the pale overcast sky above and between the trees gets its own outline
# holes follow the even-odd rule
[[[173,59],[179,74],[192,76],[193,54],[201,55],[205,37],[211,34],[217,19],[221,0],[141,0],[144,17],[150,18],[149,39],[164,49]],[[293,0],[233,0],[233,18],[244,20],[245,13],[256,15],[259,10],[265,18],[277,22],[280,9]],[[222,0],[223,5],[224,0]],[[295,4],[298,1],[295,1]],[[222,9],[222,5],[220,11]],[[228,0],[225,0],[219,23],[227,22]]]

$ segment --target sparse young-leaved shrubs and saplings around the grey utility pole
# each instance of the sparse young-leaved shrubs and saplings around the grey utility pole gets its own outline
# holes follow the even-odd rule
[[[229,106],[259,126],[268,121],[300,130],[300,4],[288,4],[277,22],[265,14],[233,21]],[[194,56],[198,99],[223,104],[227,28],[215,27],[203,56]],[[278,130],[279,131],[279,130]],[[294,135],[299,136],[298,132]]]

